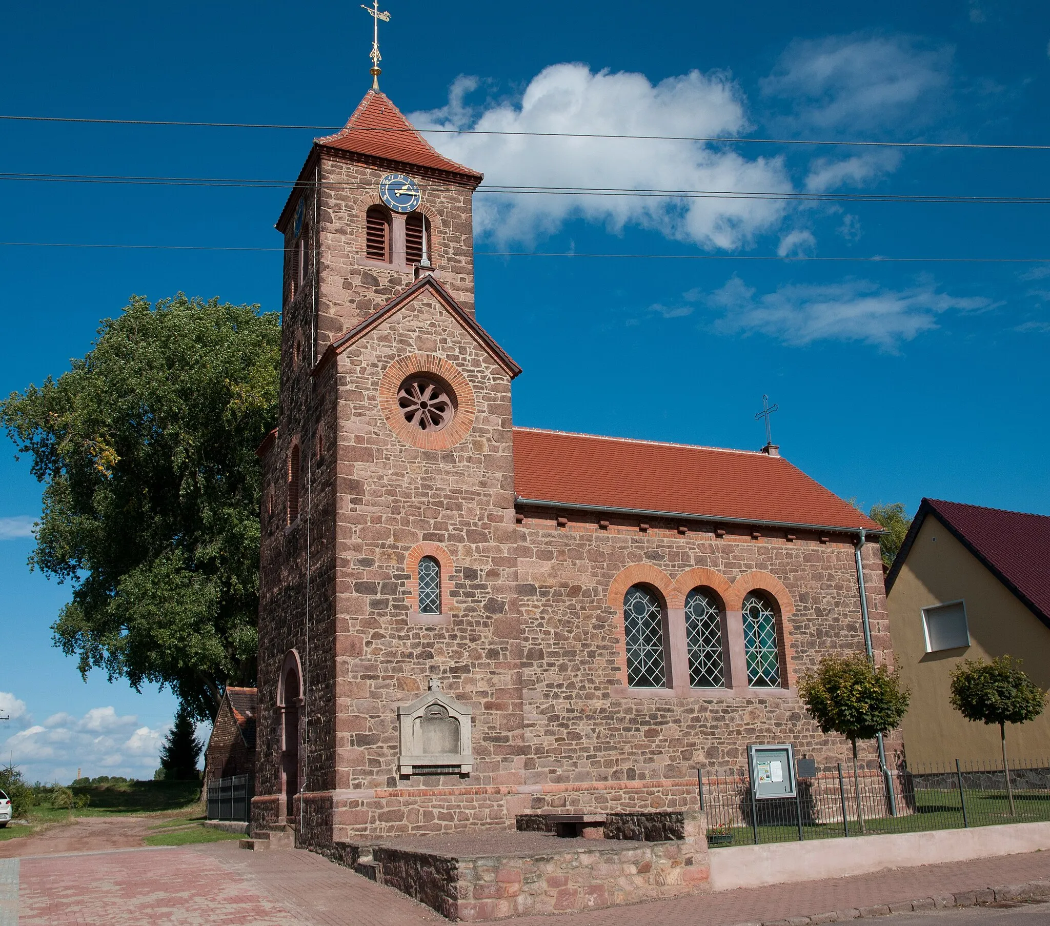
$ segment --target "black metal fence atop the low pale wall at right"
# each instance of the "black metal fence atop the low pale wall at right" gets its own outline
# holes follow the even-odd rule
[[[708,844],[916,833],[1050,820],[1050,761],[905,764],[885,773],[853,763],[799,778],[796,798],[757,799],[747,769],[699,770]]]

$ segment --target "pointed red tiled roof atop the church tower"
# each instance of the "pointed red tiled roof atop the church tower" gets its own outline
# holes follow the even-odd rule
[[[318,145],[340,148],[357,154],[401,161],[420,167],[432,167],[459,173],[480,182],[482,174],[442,154],[424,139],[388,97],[378,90],[369,90],[354,114],[334,135],[317,139]]]

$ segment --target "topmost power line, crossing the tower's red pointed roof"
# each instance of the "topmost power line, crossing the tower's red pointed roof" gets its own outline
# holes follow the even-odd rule
[[[291,125],[262,122],[189,122],[185,120],[163,119],[88,119],[64,115],[0,115],[0,120],[13,122],[58,122],[88,123],[97,125],[158,125],[183,126],[191,128],[254,128],[254,129],[295,129],[301,131],[340,131],[344,126],[338,125]],[[351,129],[351,131],[354,131]],[[397,128],[368,128],[362,132],[404,132]],[[838,141],[834,139],[741,139],[719,135],[630,135],[613,132],[528,132],[509,131],[506,129],[417,129],[423,134],[444,135],[514,135],[521,138],[543,139],[633,139],[647,142],[710,142],[724,145],[826,145],[845,147],[873,148],[971,148],[1003,151],[1050,151],[1050,145],[1001,145],[981,144],[976,142],[874,142],[874,141]]]

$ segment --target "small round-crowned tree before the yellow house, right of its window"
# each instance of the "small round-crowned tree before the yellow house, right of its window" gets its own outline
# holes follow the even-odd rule
[[[1046,694],[1022,671],[1021,662],[1010,656],[1000,656],[990,662],[965,659],[951,673],[951,707],[967,720],[999,724],[1011,817],[1014,814],[1013,788],[1006,761],[1006,724],[1027,723],[1046,708]]]

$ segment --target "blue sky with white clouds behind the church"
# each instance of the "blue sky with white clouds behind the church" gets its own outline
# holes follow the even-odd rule
[[[1046,144],[1035,2],[390,0],[382,88],[420,125]],[[5,12],[0,114],[340,125],[368,89],[356,3],[114,2]],[[0,171],[292,178],[321,132],[0,122]],[[443,134],[489,182],[1040,196],[1050,151]],[[0,180],[0,239],[276,248],[285,192]],[[727,257],[1050,257],[1045,205],[476,197],[478,317],[523,366],[514,420],[782,453],[863,504],[1050,514],[1050,265]],[[671,255],[671,256],[667,256]],[[708,255],[718,259],[692,259]],[[0,246],[0,390],[59,375],[131,293],[277,310],[279,255]],[[8,445],[9,446],[9,445]],[[67,590],[29,573],[40,489],[0,454],[0,753],[30,777],[147,775],[167,692],[50,645]],[[5,742],[6,740],[6,742]]]

